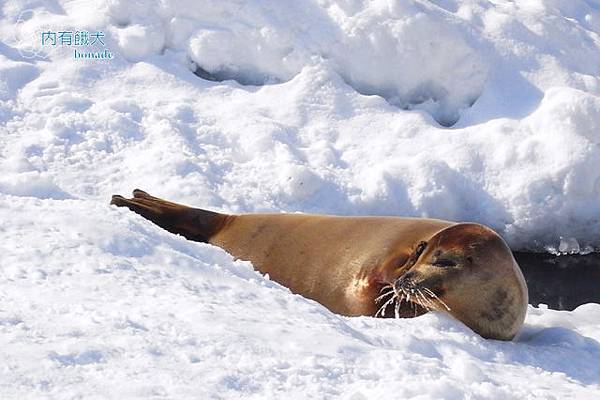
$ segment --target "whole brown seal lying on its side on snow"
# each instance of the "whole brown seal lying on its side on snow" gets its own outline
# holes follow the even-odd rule
[[[523,274],[502,238],[475,223],[305,214],[228,215],[115,195],[169,232],[223,248],[292,292],[347,316],[448,313],[484,338],[510,340],[525,319]]]

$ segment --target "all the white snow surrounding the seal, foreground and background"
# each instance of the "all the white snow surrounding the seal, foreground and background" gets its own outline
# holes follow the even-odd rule
[[[597,304],[530,307],[509,343],[441,314],[345,318],[107,205],[140,187],[598,251],[598,1],[0,7],[0,397],[600,394]],[[114,58],[48,30],[102,31]]]

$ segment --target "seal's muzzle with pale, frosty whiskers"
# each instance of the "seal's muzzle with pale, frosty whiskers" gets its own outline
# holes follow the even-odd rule
[[[450,311],[450,307],[438,295],[423,284],[415,282],[410,277],[410,274],[401,276],[393,284],[385,285],[381,289],[381,292],[383,294],[375,299],[377,304],[382,303],[379,310],[375,313],[375,317],[383,317],[388,307],[393,305],[394,317],[400,318],[400,310],[404,302],[412,308],[414,316],[417,315],[416,306],[421,306],[427,311]]]

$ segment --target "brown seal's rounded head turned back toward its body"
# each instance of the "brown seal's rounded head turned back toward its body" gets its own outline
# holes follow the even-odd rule
[[[417,245],[394,289],[402,299],[450,313],[485,338],[510,340],[525,319],[527,286],[504,240],[462,223]]]

